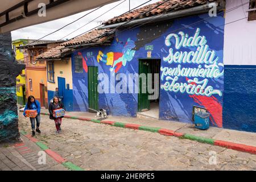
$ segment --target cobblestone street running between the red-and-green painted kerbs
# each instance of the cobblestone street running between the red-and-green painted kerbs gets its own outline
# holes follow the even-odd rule
[[[31,134],[29,118],[19,118],[20,130]],[[256,169],[256,155],[158,133],[63,118],[63,131],[55,134],[47,115],[41,115],[40,129],[36,139],[85,170]],[[210,151],[217,164],[209,164]]]

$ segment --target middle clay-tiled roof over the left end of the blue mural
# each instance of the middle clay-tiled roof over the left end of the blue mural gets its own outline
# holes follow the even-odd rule
[[[78,36],[77,38],[68,40],[60,44],[61,46],[74,46],[84,43],[104,43],[108,40],[108,35],[112,34],[111,30],[93,30],[84,35]],[[93,40],[92,40],[93,39]]]

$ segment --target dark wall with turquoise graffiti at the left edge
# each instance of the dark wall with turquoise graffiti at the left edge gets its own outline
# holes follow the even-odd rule
[[[16,77],[25,68],[11,48],[11,33],[0,34],[0,142],[19,139]]]

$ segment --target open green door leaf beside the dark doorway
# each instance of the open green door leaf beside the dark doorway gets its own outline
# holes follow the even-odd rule
[[[150,73],[150,64],[148,60],[139,60],[139,75],[142,73],[145,74],[146,79],[140,77],[139,78],[139,94],[138,94],[138,112],[143,112],[150,110],[150,100],[148,100],[148,92],[147,92],[147,74]],[[143,89],[146,93],[143,92]]]

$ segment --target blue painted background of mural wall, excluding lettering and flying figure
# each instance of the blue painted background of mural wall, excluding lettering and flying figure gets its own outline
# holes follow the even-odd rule
[[[81,54],[87,66],[98,67],[98,73],[105,73],[105,78],[115,76],[118,73],[124,73],[128,76],[129,73],[138,73],[139,59],[145,59],[148,54],[146,46],[152,45],[154,48],[151,51],[151,59],[161,59],[161,67],[164,68],[177,68],[179,64],[168,63],[167,59],[170,48],[175,52],[196,52],[199,46],[175,47],[175,38],[170,39],[170,44],[167,46],[166,39],[170,34],[178,34],[180,31],[184,32],[187,38],[193,37],[199,30],[198,36],[205,36],[207,41],[208,51],[214,51],[214,59],[216,61],[217,71],[219,77],[207,77],[207,86],[212,86],[212,89],[218,92],[213,93],[212,96],[197,96],[196,94],[188,94],[187,92],[181,93],[180,91],[167,91],[164,88],[160,89],[160,105],[159,105],[159,118],[166,120],[176,120],[180,122],[192,123],[192,107],[203,106],[211,113],[210,121],[213,126],[222,127],[222,94],[224,90],[224,75],[223,75],[223,42],[224,42],[224,18],[222,16],[208,18],[208,14],[191,16],[183,19],[176,19],[163,23],[154,23],[151,25],[135,28],[129,31],[119,30],[116,33],[117,39],[114,39],[111,46],[93,47],[76,51],[72,55],[72,76],[73,76],[73,110],[75,111],[88,111],[88,73],[84,70],[83,73],[75,73],[75,56]],[[192,23],[200,22],[197,24]],[[184,28],[185,27],[185,28]],[[182,36],[180,36],[180,39]],[[99,51],[104,55],[111,52],[127,53],[126,45],[129,44],[129,39],[134,42],[135,55],[133,59],[127,61],[115,73],[111,71],[112,68],[104,61],[97,61]],[[130,52],[131,53],[131,52]],[[204,52],[206,53],[206,52]],[[209,58],[209,57],[208,57]],[[181,63],[181,68],[205,68],[205,65],[211,64],[189,64]],[[160,72],[160,76],[163,72]],[[172,77],[174,78],[174,77]],[[189,80],[193,80],[192,85],[200,85],[199,82],[195,83],[195,79],[203,81],[204,77],[182,77],[180,76],[176,82],[189,84]],[[167,76],[163,76],[160,81],[161,85],[170,82]],[[117,81],[114,81],[117,83]],[[101,83],[101,81],[99,81]],[[112,84],[114,85],[114,84]],[[128,85],[134,85],[134,82],[128,82]],[[207,86],[205,88],[207,88]],[[203,90],[205,90],[205,88]],[[109,114],[123,115],[135,117],[138,107],[138,94],[137,93],[102,93],[99,94],[99,107],[104,108]],[[216,109],[217,108],[217,109]]]

